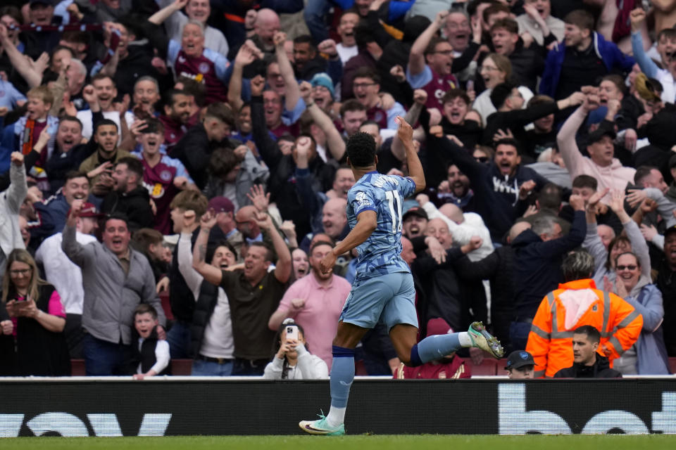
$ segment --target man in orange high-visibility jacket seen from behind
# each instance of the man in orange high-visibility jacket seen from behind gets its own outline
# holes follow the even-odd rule
[[[643,317],[631,304],[612,293],[596,289],[594,259],[589,252],[571,253],[561,264],[566,283],[540,303],[528,335],[526,351],[535,360],[535,377],[553,377],[572,366],[572,332],[582,325],[601,332],[599,353],[613,359],[634,345]]]

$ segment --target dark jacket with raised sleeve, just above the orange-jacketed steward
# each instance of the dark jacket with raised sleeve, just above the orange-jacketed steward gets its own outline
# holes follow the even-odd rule
[[[512,247],[516,316],[532,319],[542,298],[563,283],[563,257],[582,245],[586,233],[584,211],[576,211],[566,236],[545,242],[529,229],[515,238]]]

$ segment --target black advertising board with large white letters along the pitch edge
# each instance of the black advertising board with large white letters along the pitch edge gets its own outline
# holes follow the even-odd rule
[[[285,435],[329,383],[238,378],[0,380],[0,436]],[[676,434],[676,379],[364,380],[350,434]]]

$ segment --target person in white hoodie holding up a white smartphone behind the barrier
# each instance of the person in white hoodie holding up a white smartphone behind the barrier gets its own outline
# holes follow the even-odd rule
[[[275,357],[265,366],[268,380],[318,380],[329,377],[329,369],[319,356],[309,352],[303,327],[294,319],[284,319],[275,335]]]

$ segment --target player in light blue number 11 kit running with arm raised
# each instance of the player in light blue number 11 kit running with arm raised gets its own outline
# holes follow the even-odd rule
[[[329,273],[338,255],[357,248],[357,276],[333,340],[329,415],[299,423],[301,429],[311,435],[345,434],[343,422],[354,379],[354,348],[379,319],[387,326],[397,356],[406,366],[420,366],[461,347],[478,347],[497,359],[503,356],[500,342],[481,322],[472,323],[467,332],[432,335],[416,344],[415,288],[408,264],[400,256],[401,205],[404,198],[425,189],[425,175],[413,147],[411,125],[401,117],[397,117],[396,122],[411,174],[406,178],[376,172],[378,160],[370,134],[358,132],[347,143],[347,162],[354,179],[358,180],[347,194],[351,231],[322,260],[321,267],[324,273]]]

